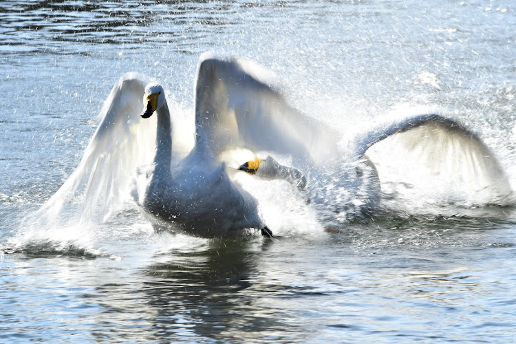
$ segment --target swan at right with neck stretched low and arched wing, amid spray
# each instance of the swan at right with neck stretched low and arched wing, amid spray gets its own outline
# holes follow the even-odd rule
[[[387,138],[385,147],[378,147]],[[306,165],[303,171],[282,166],[270,156],[254,158],[240,169],[257,178],[301,185],[299,189],[306,189],[308,200],[314,200],[325,222],[363,219],[374,212],[381,194],[377,166],[400,149],[410,151],[409,164],[416,164],[418,171],[430,171],[443,189],[452,186],[469,206],[506,206],[514,202],[510,182],[491,149],[477,134],[440,114],[376,118],[361,123],[339,146],[336,157],[323,166]],[[308,182],[305,175],[310,175]],[[457,202],[457,195],[452,195],[449,202]]]

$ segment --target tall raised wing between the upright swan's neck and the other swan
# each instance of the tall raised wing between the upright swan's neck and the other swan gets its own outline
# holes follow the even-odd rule
[[[266,78],[248,62],[203,56],[195,85],[197,140],[207,140],[215,157],[232,148],[314,162],[334,153],[336,133],[288,105]]]

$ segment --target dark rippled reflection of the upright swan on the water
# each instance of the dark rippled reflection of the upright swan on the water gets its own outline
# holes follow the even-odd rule
[[[297,342],[275,297],[290,288],[261,278],[269,239],[216,239],[205,250],[168,252],[142,270],[142,293],[156,311],[155,335],[164,341]]]

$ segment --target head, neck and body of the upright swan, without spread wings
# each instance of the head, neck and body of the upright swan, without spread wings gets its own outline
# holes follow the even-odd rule
[[[225,235],[243,228],[272,233],[259,217],[256,200],[233,184],[225,164],[218,164],[210,147],[211,129],[198,118],[195,146],[184,159],[172,164],[171,120],[164,89],[150,83],[144,89],[142,118],[158,117],[156,149],[143,192],[133,194],[157,228],[175,224],[174,230],[201,237]]]

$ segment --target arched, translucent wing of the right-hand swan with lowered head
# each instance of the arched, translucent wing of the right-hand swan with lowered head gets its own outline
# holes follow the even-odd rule
[[[380,178],[382,164],[403,164],[405,171],[400,173],[413,169],[416,183],[427,182],[426,171],[438,181],[437,187],[453,192],[451,202],[513,202],[510,183],[491,149],[477,134],[439,114],[377,120],[355,137],[356,156],[366,151],[378,166]]]

